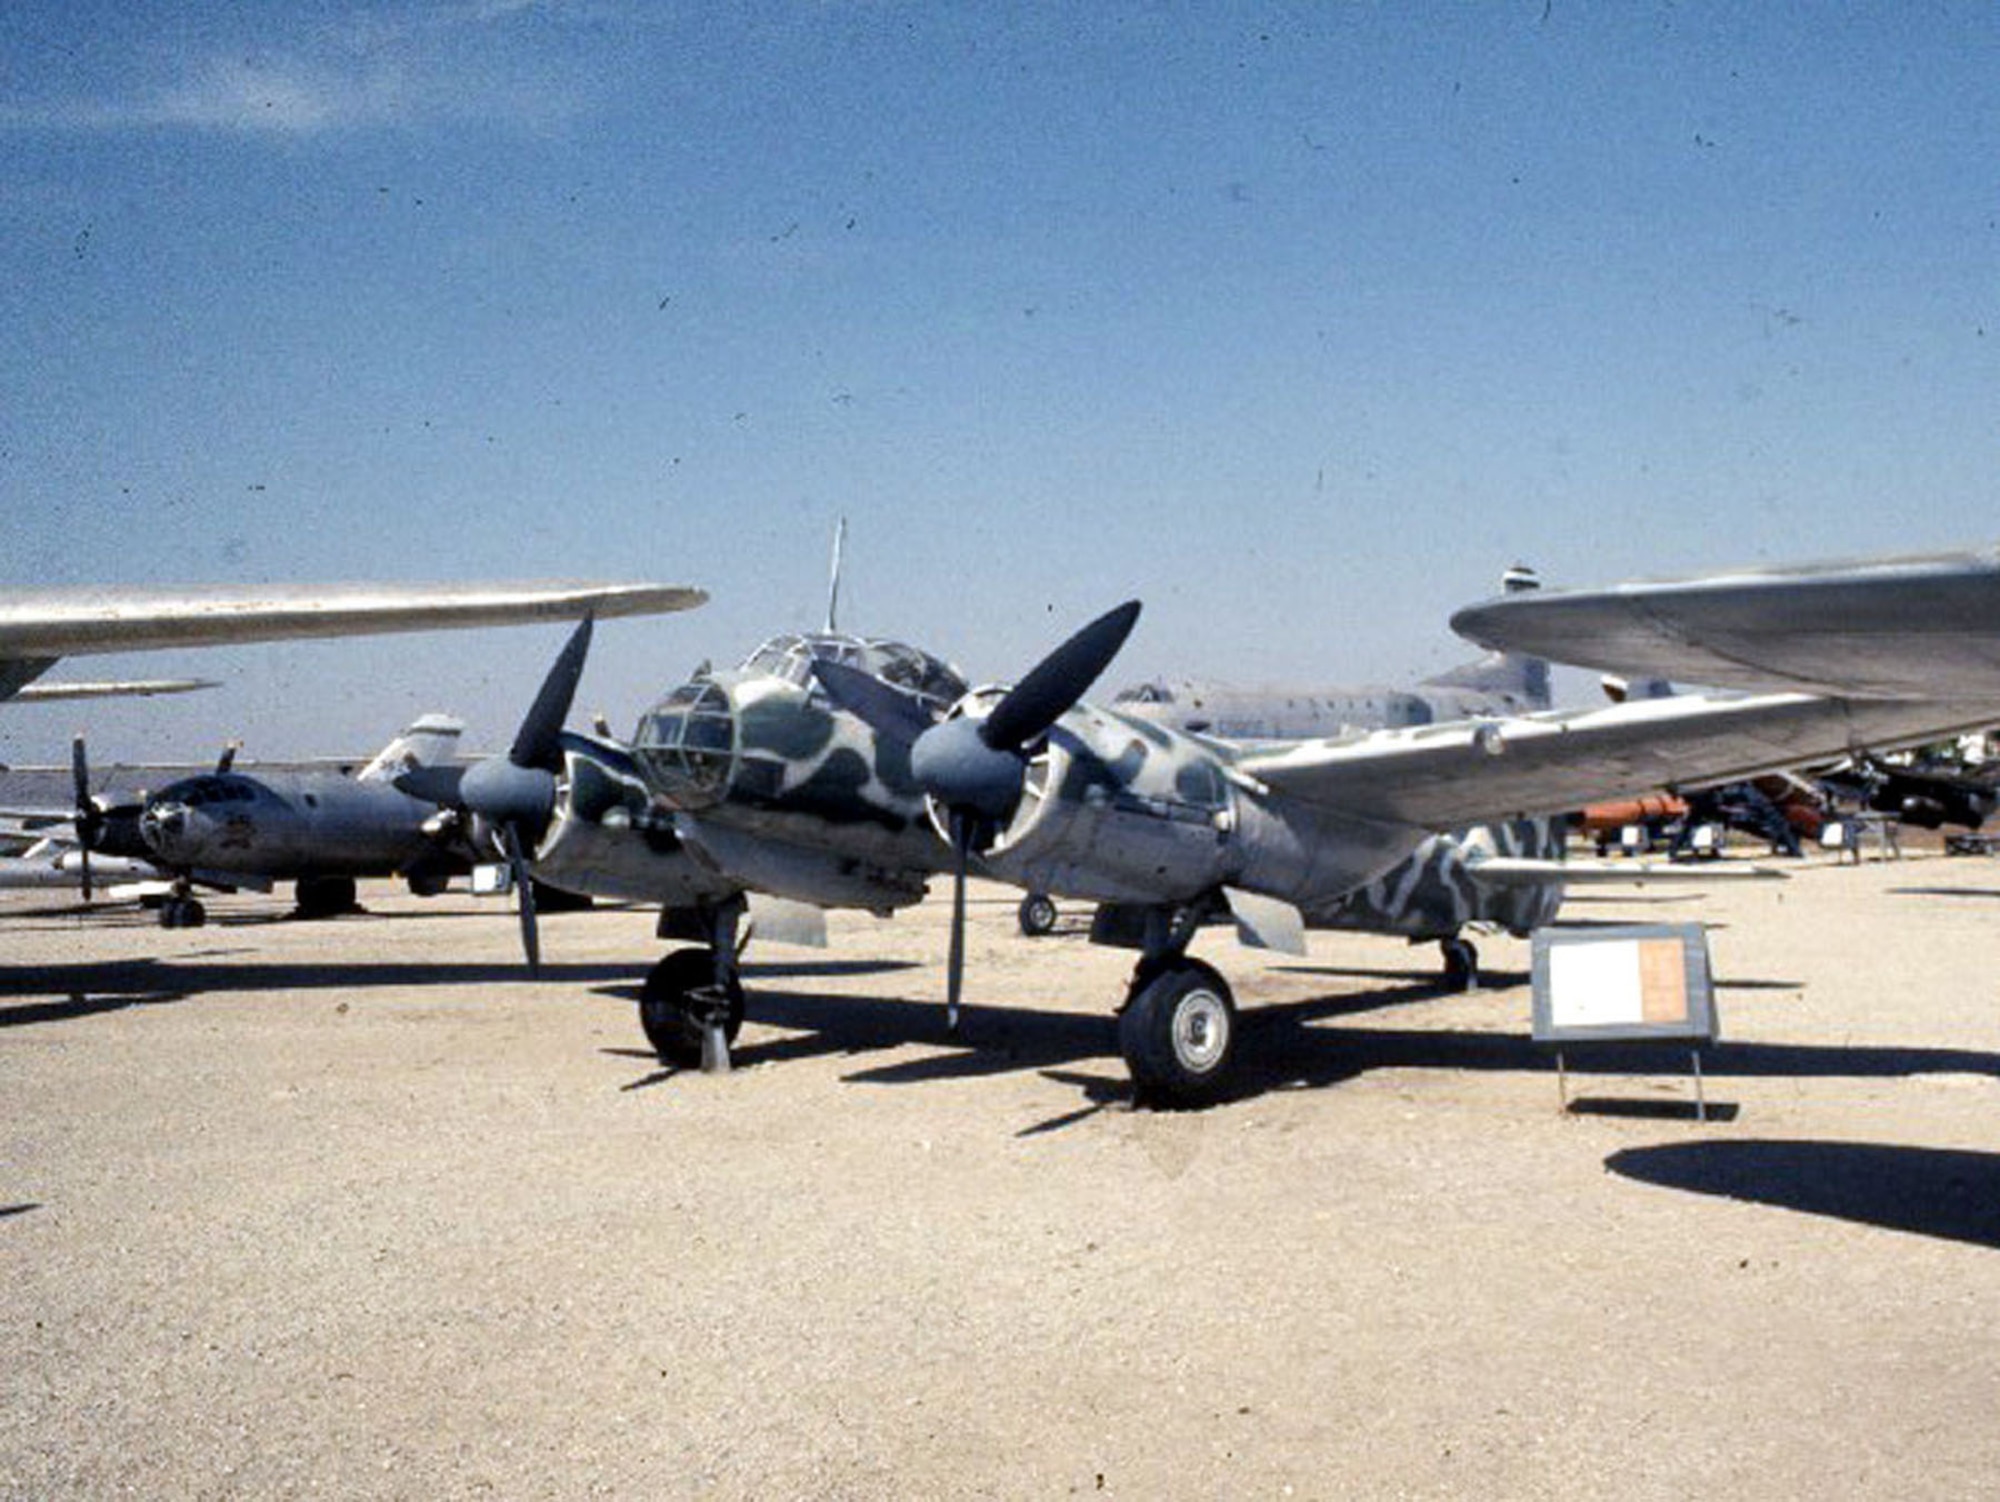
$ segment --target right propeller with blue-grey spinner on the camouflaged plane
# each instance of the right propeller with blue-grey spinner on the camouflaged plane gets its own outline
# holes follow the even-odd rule
[[[982,718],[934,720],[924,704],[858,668],[818,660],[826,694],[884,740],[910,752],[910,772],[944,814],[952,842],[952,952],[946,968],[946,1022],[958,1030],[966,972],[966,874],[1020,804],[1028,748],[1090,692],[1138,624],[1140,602],[1108,610],[1042,658]]]

